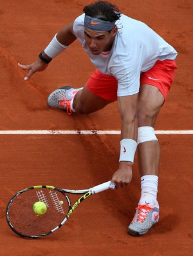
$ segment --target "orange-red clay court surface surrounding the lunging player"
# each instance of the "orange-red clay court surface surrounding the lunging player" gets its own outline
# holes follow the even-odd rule
[[[78,42],[44,72],[24,81],[17,63],[30,64],[62,26],[82,13],[84,0],[0,0],[1,256],[190,256],[193,255],[192,0],[115,0],[124,14],[151,26],[178,51],[178,70],[156,131],[161,144],[158,201],[160,221],[142,237],[127,226],[140,197],[137,161],[133,181],[122,191],[99,193],[73,213],[57,232],[42,239],[17,236],[6,223],[9,199],[28,186],[49,184],[84,189],[111,179],[118,166],[118,134],[37,134],[37,131],[120,131],[117,105],[91,115],[66,115],[48,108],[50,92],[80,87],[94,67]],[[36,131],[14,134],[14,131]],[[177,134],[170,134],[176,131]],[[178,131],[186,131],[178,134]],[[5,133],[3,133],[5,132]],[[137,160],[137,159],[136,159]]]

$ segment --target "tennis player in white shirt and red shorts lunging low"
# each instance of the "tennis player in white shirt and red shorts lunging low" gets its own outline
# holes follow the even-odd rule
[[[29,70],[24,79],[44,70],[76,39],[96,70],[83,88],[64,86],[52,92],[48,105],[69,114],[88,114],[118,101],[122,119],[120,159],[111,181],[117,188],[131,182],[138,148],[141,197],[128,231],[131,235],[143,235],[159,219],[160,145],[154,126],[174,81],[177,52],[149,26],[122,14],[111,3],[98,1],[85,6],[83,14],[64,26],[37,61],[19,64]]]

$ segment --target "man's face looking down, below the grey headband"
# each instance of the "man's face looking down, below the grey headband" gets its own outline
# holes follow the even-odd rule
[[[93,31],[86,27],[84,28],[84,39],[91,53],[94,55],[99,55],[102,52],[111,50],[115,35],[116,27],[113,28],[110,33],[107,31]]]

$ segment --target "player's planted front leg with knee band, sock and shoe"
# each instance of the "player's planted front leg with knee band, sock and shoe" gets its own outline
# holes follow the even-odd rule
[[[131,235],[147,233],[158,221],[158,168],[160,144],[154,135],[154,124],[164,97],[155,86],[142,84],[138,99],[138,165],[141,175],[141,197],[134,219],[129,225]]]

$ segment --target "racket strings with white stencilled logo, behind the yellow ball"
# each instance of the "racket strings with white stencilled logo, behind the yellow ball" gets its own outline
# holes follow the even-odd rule
[[[33,212],[33,204],[37,201],[42,201],[47,206],[47,211],[43,215]],[[69,199],[65,194],[57,190],[41,188],[41,190],[26,190],[17,195],[10,204],[8,217],[15,231],[23,235],[35,236],[57,228],[68,211]]]

